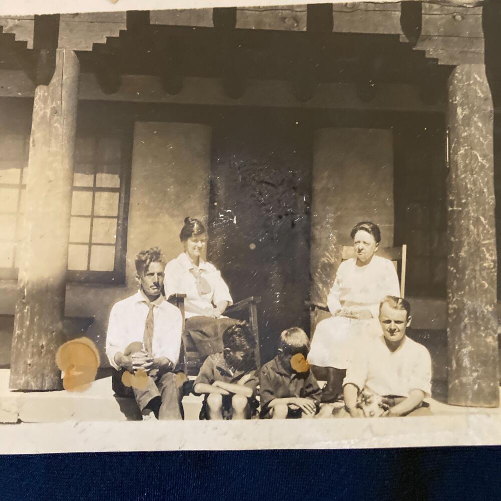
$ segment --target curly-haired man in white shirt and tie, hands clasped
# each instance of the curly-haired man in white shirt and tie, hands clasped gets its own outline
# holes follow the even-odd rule
[[[161,250],[143,250],[135,264],[139,291],[113,306],[108,324],[106,354],[116,369],[114,389],[120,381],[129,382],[143,418],[182,419],[182,315],[161,294]]]

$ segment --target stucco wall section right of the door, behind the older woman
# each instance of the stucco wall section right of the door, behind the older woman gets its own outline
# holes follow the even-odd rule
[[[329,128],[313,146],[311,300],[325,303],[359,221],[381,228],[383,247],[393,245],[393,136],[386,129]]]

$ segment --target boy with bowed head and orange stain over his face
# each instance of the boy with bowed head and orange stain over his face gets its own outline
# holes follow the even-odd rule
[[[259,373],[261,418],[311,418],[318,412],[321,390],[306,361],[309,351],[302,329],[282,332],[277,356]]]

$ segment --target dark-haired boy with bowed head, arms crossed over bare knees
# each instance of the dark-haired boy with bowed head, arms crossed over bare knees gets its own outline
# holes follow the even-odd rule
[[[200,419],[250,419],[258,408],[256,340],[245,322],[222,335],[223,352],[209,355],[195,380],[193,393],[205,393]]]

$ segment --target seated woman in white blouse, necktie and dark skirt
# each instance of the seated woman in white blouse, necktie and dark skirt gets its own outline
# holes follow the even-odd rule
[[[198,219],[186,217],[179,238],[184,252],[165,267],[165,297],[186,294],[185,335],[205,358],[222,352],[222,333],[238,320],[223,316],[224,310],[233,304],[228,286],[215,266],[200,257],[207,244],[205,226]]]

